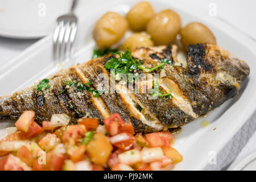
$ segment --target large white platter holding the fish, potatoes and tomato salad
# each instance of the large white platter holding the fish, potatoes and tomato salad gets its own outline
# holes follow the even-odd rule
[[[95,47],[92,39],[93,24],[102,14],[108,10],[125,14],[135,2],[138,1],[113,1],[111,3],[108,1],[105,5],[102,2],[100,7],[96,6],[86,13],[84,13],[83,7],[77,9],[79,30],[73,63],[82,63],[92,56]],[[184,158],[183,162],[177,164],[175,169],[204,169],[208,162],[214,164],[214,155],[236,134],[255,110],[256,72],[253,68],[256,67],[256,55],[254,53],[256,52],[256,45],[228,24],[202,16],[200,12],[194,12],[185,5],[167,0],[150,2],[155,11],[167,8],[177,11],[183,20],[183,25],[195,21],[207,24],[216,35],[218,45],[246,60],[251,68],[247,85],[240,94],[210,112],[206,118],[196,119],[196,121],[183,126],[181,133],[177,135],[174,146]],[[0,89],[0,95],[30,86],[39,78],[56,72],[57,69],[52,63],[51,36],[47,36],[0,68],[0,85],[4,87],[4,89]],[[210,125],[201,127],[200,123],[205,119],[210,122]]]

